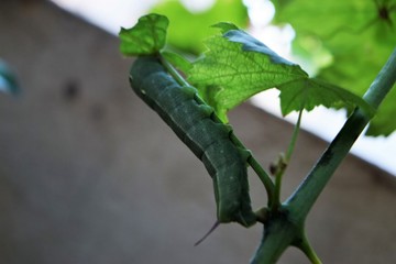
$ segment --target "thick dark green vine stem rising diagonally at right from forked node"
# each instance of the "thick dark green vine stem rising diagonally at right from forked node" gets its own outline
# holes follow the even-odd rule
[[[377,109],[395,81],[396,48],[363,98]],[[276,263],[289,245],[299,248],[314,264],[320,263],[305,237],[306,217],[371,118],[370,113],[356,109],[296,191],[278,211],[270,212],[264,223],[262,242],[251,261],[252,264]]]

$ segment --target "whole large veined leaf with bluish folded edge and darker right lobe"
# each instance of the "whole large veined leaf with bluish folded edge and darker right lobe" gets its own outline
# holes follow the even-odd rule
[[[223,29],[223,28],[222,28]],[[283,114],[316,106],[371,108],[340,87],[311,79],[298,65],[278,56],[248,33],[231,30],[206,42],[209,51],[189,72],[189,81],[227,121],[228,110],[270,88],[280,90]]]

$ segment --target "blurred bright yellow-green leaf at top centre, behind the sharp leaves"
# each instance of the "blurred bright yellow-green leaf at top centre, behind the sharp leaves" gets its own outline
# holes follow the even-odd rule
[[[201,11],[188,10],[180,1],[168,0],[161,1],[152,12],[164,14],[172,21],[168,44],[193,54],[205,50],[202,40],[213,34],[210,25],[229,21],[246,28],[249,23],[242,0],[216,0],[212,7]]]

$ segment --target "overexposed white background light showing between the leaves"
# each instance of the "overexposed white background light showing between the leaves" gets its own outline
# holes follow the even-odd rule
[[[147,13],[150,8],[160,0],[53,0],[66,10],[86,19],[106,31],[117,35],[120,28],[131,28],[138,19]],[[189,10],[196,12],[210,8],[215,0],[183,0]],[[299,63],[307,69],[304,62],[298,62],[290,54],[290,42],[295,36],[292,26],[277,28],[270,23],[274,15],[274,7],[267,0],[244,0],[251,18],[252,35],[265,43],[276,53],[290,61]],[[252,103],[267,112],[282,117],[278,92],[275,89],[255,96]],[[297,114],[292,113],[285,118],[295,123]],[[345,121],[344,111],[336,111],[322,107],[309,113],[304,113],[301,128],[317,136],[331,141]],[[352,153],[376,165],[393,175],[396,175],[396,133],[388,138],[361,136],[352,148]]]

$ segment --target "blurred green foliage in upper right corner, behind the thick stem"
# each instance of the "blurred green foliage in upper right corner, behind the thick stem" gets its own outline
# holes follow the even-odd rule
[[[318,77],[356,95],[364,94],[395,47],[396,0],[273,2],[275,22],[290,23],[296,30],[295,50],[299,55],[318,59],[312,53],[301,54],[312,50],[312,41],[331,54],[332,64],[320,65],[326,67]],[[396,129],[395,100],[393,90],[373,119],[369,134],[387,135]]]

